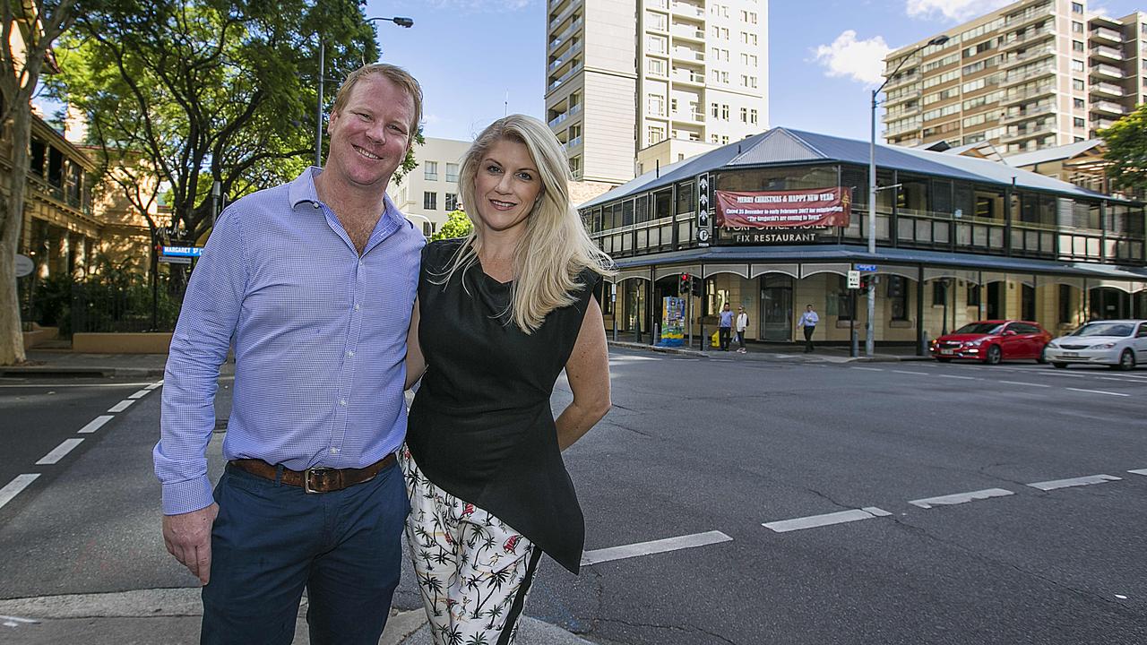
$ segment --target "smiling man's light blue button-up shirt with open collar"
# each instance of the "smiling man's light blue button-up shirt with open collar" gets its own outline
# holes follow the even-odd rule
[[[385,208],[359,256],[310,168],[216,223],[171,340],[155,472],[163,512],[212,503],[205,450],[234,341],[226,459],[358,468],[406,436],[406,332],[422,234]]]

